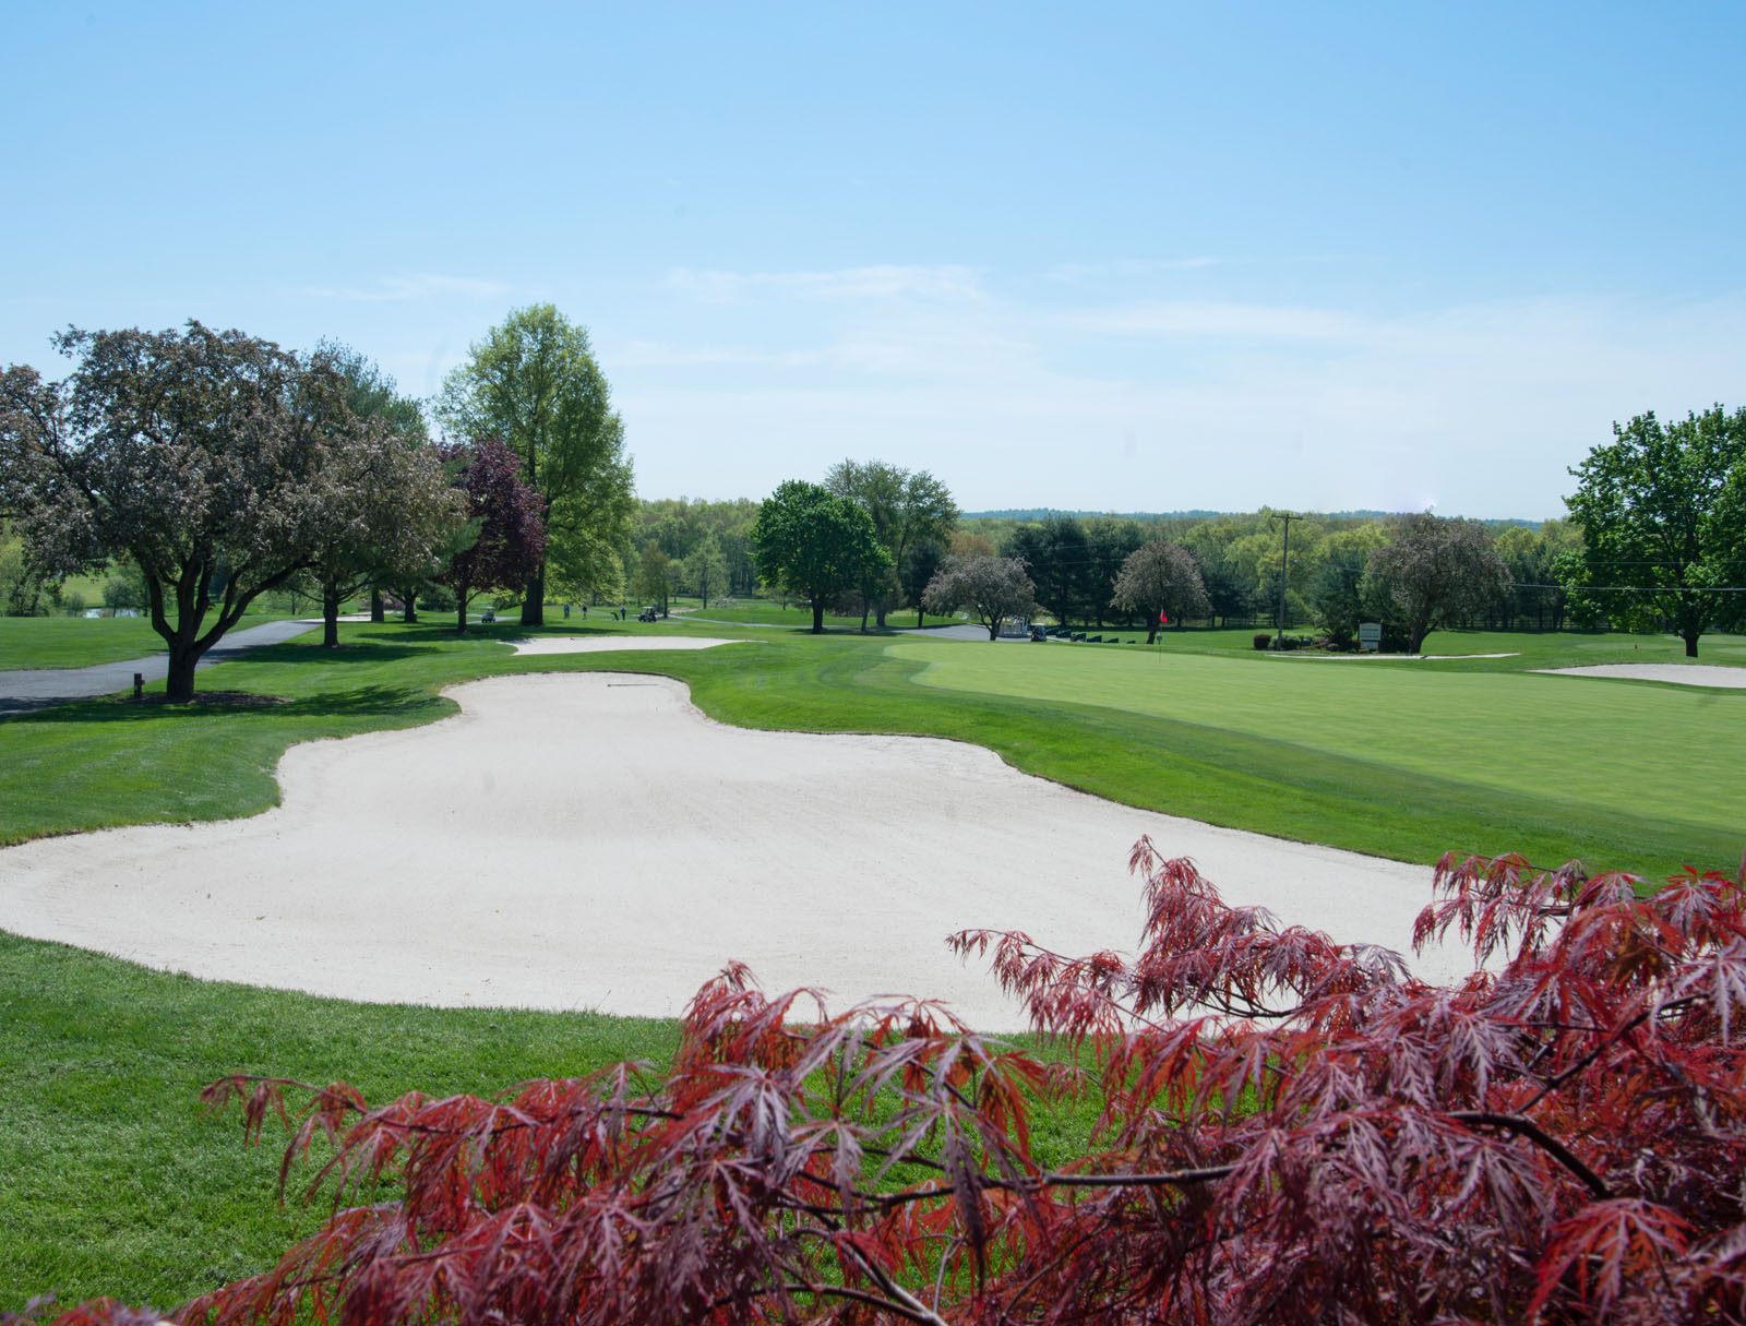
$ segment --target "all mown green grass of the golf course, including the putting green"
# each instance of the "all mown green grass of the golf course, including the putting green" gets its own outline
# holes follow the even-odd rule
[[[592,618],[545,632],[594,631],[737,632]],[[1736,863],[1746,821],[1716,763],[1743,697],[1519,671],[1524,660],[1641,657],[1629,638],[1596,638],[1608,657],[1591,638],[1484,636],[1470,650],[1433,638],[1439,652],[1495,652],[1507,639],[1524,659],[1393,664],[1238,659],[1227,641],[1196,652],[1175,638],[1177,653],[1156,659],[756,629],[747,634],[765,648],[517,659],[501,641],[519,634],[508,624],[466,638],[447,622],[346,625],[342,650],[309,636],[201,674],[206,690],[285,704],[98,701],[0,720],[0,840],[258,811],[278,800],[272,769],[293,741],[440,718],[454,713],[440,687],[475,676],[566,669],[672,674],[705,713],[749,727],[976,741],[1133,805],[1402,860],[1521,849],[1653,875],[1681,860]],[[1725,648],[1706,643],[1706,659]],[[1154,688],[1163,678],[1177,681],[1175,699]],[[1514,720],[1496,718],[1500,708]],[[1470,722],[1489,723],[1482,739]],[[1364,734],[1388,723],[1411,736],[1385,760]],[[1629,736],[1619,758],[1606,732]],[[1566,758],[1552,749],[1561,742],[1575,742]],[[1657,742],[1690,758],[1652,765]],[[1681,805],[1697,809],[1667,814]],[[1021,842],[1023,828],[1014,835]],[[258,1270],[306,1228],[307,1214],[272,1205],[278,1148],[246,1150],[234,1118],[196,1115],[196,1092],[223,1073],[346,1076],[372,1099],[498,1090],[623,1057],[663,1060],[672,1038],[670,1024],[623,1019],[309,999],[0,936],[0,1309],[45,1289],[168,1305]],[[1072,1111],[1051,1116],[1046,1146],[1070,1150],[1079,1123]]]

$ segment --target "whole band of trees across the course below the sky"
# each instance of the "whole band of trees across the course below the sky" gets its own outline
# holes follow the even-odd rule
[[[555,601],[634,594],[665,610],[674,592],[707,606],[765,589],[803,594],[821,631],[824,611],[883,627],[899,608],[918,624],[922,604],[962,610],[932,587],[971,571],[1011,590],[999,611],[978,608],[990,634],[1032,613],[1159,624],[1168,606],[1179,625],[1276,620],[1282,646],[1299,622],[1336,646],[1376,622],[1385,646],[1411,648],[1442,625],[1612,624],[1676,631],[1697,657],[1704,631],[1746,624],[1746,409],[1720,404],[1615,423],[1571,468],[1570,519],[966,515],[927,470],[880,459],[791,479],[761,503],[637,500],[587,328],[552,304],[513,309],[428,404],[349,346],[300,355],[196,320],[68,328],[51,346],[73,360],[65,381],[0,370],[0,613],[82,611],[75,578],[115,611],[143,599],[180,699],[204,650],[257,599],[286,594],[320,597],[333,648],[339,606],[360,590],[375,620],[388,592],[409,622],[416,603],[452,599],[466,631],[468,599],[487,592],[543,625]],[[1161,575],[1165,561],[1173,589],[1137,597],[1140,568]]]

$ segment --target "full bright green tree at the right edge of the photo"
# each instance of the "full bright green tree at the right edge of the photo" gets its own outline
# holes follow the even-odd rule
[[[1627,631],[1671,625],[1687,659],[1704,631],[1743,617],[1746,409],[1615,423],[1571,473],[1564,501],[1584,538],[1580,559],[1563,563],[1571,592]]]

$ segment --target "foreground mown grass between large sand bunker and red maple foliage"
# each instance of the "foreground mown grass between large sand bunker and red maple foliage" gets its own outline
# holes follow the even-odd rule
[[[169,1309],[314,1226],[300,1188],[276,1200],[283,1134],[246,1146],[234,1108],[199,1109],[229,1073],[491,1095],[618,1060],[660,1074],[676,1043],[665,1020],[353,1005],[0,933],[0,1312],[49,1291]]]

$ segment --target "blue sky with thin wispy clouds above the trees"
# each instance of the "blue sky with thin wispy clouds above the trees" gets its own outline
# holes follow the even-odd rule
[[[1746,404],[1746,5],[12,0],[0,362],[588,327],[643,496],[1545,517]]]

